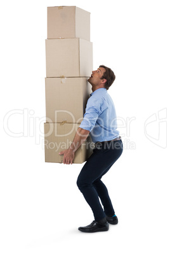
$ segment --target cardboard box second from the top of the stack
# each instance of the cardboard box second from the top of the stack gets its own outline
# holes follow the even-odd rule
[[[46,77],[91,76],[93,43],[81,38],[46,39]]]

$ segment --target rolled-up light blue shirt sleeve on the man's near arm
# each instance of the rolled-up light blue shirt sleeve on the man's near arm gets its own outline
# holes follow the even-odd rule
[[[105,102],[103,99],[96,99],[95,97],[90,97],[86,106],[86,112],[84,114],[83,120],[81,122],[81,127],[84,130],[91,132],[93,127],[95,127],[96,120],[100,114],[105,110]]]

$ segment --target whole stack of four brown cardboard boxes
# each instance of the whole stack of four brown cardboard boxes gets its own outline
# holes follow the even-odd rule
[[[76,6],[48,7],[46,39],[46,162],[62,162],[59,152],[74,139],[91,93],[88,78],[93,69],[90,13]],[[90,136],[75,152],[74,163],[88,159]]]

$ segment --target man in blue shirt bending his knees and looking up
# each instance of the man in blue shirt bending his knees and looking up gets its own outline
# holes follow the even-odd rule
[[[114,103],[107,90],[115,80],[112,69],[100,66],[88,82],[92,85],[92,94],[88,99],[86,113],[77,129],[72,145],[63,154],[63,164],[72,164],[74,153],[86,140],[89,133],[95,148],[93,154],[82,167],[77,179],[77,186],[91,207],[95,220],[86,227],[79,227],[82,232],[108,231],[108,223],[117,224],[118,219],[107,187],[101,177],[107,173],[122,154],[122,140],[117,131],[117,120]],[[101,207],[103,204],[103,208]]]

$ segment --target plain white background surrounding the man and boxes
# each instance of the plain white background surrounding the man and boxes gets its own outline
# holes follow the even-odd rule
[[[93,220],[83,164],[44,162],[46,9],[62,5],[91,13],[93,69],[116,75],[124,152],[103,177],[119,218],[108,232],[77,230]],[[169,255],[168,1],[6,1],[0,18],[1,255]]]

